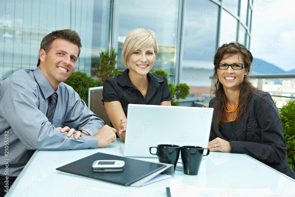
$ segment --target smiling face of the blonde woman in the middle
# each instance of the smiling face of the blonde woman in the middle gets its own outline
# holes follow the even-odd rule
[[[129,58],[130,72],[146,75],[153,68],[156,54],[153,45],[134,51]]]

